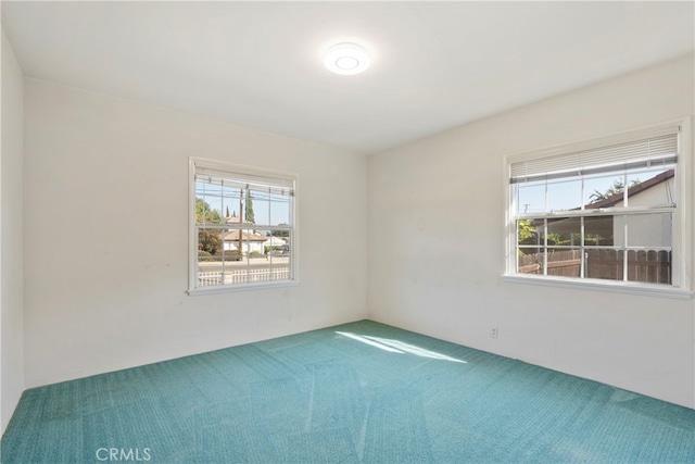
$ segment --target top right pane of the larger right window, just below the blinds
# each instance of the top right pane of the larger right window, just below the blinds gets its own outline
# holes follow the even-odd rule
[[[672,166],[659,166],[628,173],[628,205],[675,204],[675,178]]]

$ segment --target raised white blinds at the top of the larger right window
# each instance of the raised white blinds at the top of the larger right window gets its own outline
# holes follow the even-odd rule
[[[623,168],[673,164],[678,159],[679,126],[604,139],[578,150],[554,149],[510,159],[511,184],[589,175]]]

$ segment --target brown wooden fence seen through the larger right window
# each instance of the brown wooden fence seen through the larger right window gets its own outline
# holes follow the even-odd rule
[[[547,253],[547,275],[580,277],[581,250]],[[584,250],[585,277],[622,280],[624,251],[611,249]],[[543,274],[543,253],[519,256],[518,272]],[[628,280],[650,284],[671,283],[671,252],[665,250],[628,250]]]

